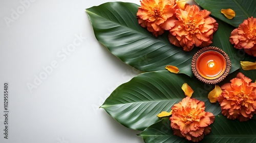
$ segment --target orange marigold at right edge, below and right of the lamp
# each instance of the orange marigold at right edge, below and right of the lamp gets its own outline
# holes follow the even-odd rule
[[[256,113],[256,83],[239,73],[236,78],[221,86],[218,97],[222,114],[227,118],[239,121],[249,120]]]

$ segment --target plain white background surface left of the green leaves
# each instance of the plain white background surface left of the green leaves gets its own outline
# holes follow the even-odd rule
[[[1,143],[143,142],[138,131],[99,109],[118,85],[138,74],[94,36],[84,9],[105,2],[114,1],[0,1]],[[8,139],[4,82],[9,83]]]

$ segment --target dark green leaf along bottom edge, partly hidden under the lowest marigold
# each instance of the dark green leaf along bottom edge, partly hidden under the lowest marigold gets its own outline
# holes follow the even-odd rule
[[[215,121],[210,125],[211,132],[204,136],[201,142],[248,142],[256,141],[255,120],[239,122],[238,120],[228,120],[223,115],[215,116]],[[146,128],[139,134],[145,143],[150,142],[189,142],[185,138],[173,135],[170,128],[169,118],[165,117],[162,121]]]

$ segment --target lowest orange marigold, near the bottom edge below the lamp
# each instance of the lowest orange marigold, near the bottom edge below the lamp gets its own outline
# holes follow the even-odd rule
[[[170,127],[174,135],[198,142],[203,139],[204,135],[210,133],[209,125],[214,122],[215,116],[210,112],[205,112],[203,101],[186,97],[175,104],[172,110]]]

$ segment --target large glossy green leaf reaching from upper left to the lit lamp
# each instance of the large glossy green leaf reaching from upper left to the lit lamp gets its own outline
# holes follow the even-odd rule
[[[141,71],[165,70],[166,65],[175,65],[181,73],[193,76],[191,58],[198,49],[184,52],[170,44],[167,33],[156,38],[139,25],[138,7],[114,2],[86,9],[97,40],[124,63]]]

